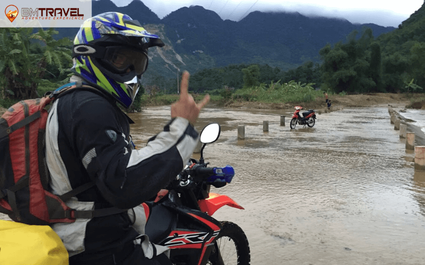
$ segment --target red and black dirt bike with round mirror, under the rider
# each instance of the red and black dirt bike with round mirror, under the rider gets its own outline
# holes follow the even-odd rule
[[[150,204],[151,212],[145,233],[155,244],[170,248],[170,260],[175,265],[249,264],[248,240],[235,223],[218,221],[211,215],[229,205],[244,209],[226,195],[209,192],[210,186],[230,183],[234,169],[207,167],[203,148],[220,134],[218,123],[205,126],[200,133],[203,143],[199,161],[190,158],[186,168],[166,189],[158,192]]]

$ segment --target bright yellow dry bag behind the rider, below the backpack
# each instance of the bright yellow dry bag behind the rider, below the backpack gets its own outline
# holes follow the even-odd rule
[[[0,264],[66,265],[68,252],[48,225],[0,220]]]

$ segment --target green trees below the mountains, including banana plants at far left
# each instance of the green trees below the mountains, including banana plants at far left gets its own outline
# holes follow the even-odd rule
[[[425,18],[418,18],[425,23]],[[417,20],[417,19],[416,19]],[[282,71],[267,64],[229,64],[192,73],[189,90],[219,94],[273,82],[308,83],[328,92],[422,92],[425,87],[425,34],[416,26],[400,25],[374,39],[372,30],[354,30],[346,41],[326,44],[321,62],[307,61]],[[423,27],[423,26],[422,26]],[[41,96],[68,81],[72,42],[55,40],[50,28],[0,28],[0,92],[4,100]],[[359,36],[358,36],[359,35]],[[148,93],[176,93],[177,79],[157,76],[144,83]],[[229,89],[230,88],[230,89]],[[142,89],[142,91],[144,91]]]

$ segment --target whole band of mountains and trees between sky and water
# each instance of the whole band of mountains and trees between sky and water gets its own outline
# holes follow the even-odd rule
[[[200,6],[159,19],[139,0],[124,7],[93,1],[93,12],[110,9],[146,22],[145,28],[166,43],[149,49],[142,80],[148,93],[176,93],[182,70],[191,72],[191,91],[224,96],[241,88],[248,89],[247,95],[252,87],[266,85],[292,91],[294,83],[338,93],[420,92],[425,87],[425,4],[398,28],[258,11],[238,22],[223,21]],[[69,30],[0,28],[4,105],[4,100],[35,97],[67,82],[72,42],[58,36],[76,32]]]

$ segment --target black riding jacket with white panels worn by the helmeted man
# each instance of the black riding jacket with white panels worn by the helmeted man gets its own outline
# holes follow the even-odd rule
[[[57,98],[46,126],[46,159],[53,193],[81,184],[95,186],[66,204],[79,210],[129,209],[151,198],[182,170],[198,133],[187,119],[169,121],[163,131],[134,149],[128,117],[105,96],[74,88]],[[69,255],[111,251],[138,234],[126,211],[74,223],[53,224]]]

